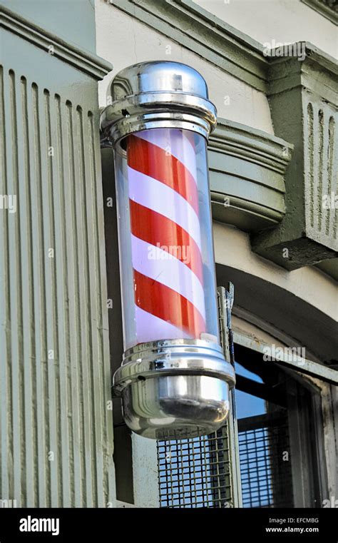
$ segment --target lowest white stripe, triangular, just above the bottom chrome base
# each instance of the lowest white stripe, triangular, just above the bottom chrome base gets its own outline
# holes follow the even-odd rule
[[[192,338],[180,328],[167,323],[148,311],[144,311],[135,305],[136,336],[138,343],[157,340],[179,340]]]

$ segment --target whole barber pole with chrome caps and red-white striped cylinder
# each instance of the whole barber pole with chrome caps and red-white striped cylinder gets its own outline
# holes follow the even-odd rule
[[[229,412],[235,373],[218,330],[206,143],[215,107],[175,62],[116,75],[101,113],[115,159],[123,362],[113,376],[131,430],[206,435]]]

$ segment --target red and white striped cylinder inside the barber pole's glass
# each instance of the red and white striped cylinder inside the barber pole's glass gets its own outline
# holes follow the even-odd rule
[[[128,136],[130,229],[138,343],[205,333],[193,136],[155,128]]]

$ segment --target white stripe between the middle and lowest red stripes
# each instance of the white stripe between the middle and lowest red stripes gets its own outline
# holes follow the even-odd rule
[[[131,235],[133,268],[146,277],[175,290],[199,310],[205,320],[204,290],[200,280],[173,253]],[[173,248],[173,252],[175,248]],[[188,255],[189,256],[189,255]]]

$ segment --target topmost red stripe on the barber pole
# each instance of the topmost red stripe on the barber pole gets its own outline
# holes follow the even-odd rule
[[[190,203],[198,215],[196,182],[178,158],[137,136],[128,136],[127,157],[130,168],[173,188]]]

